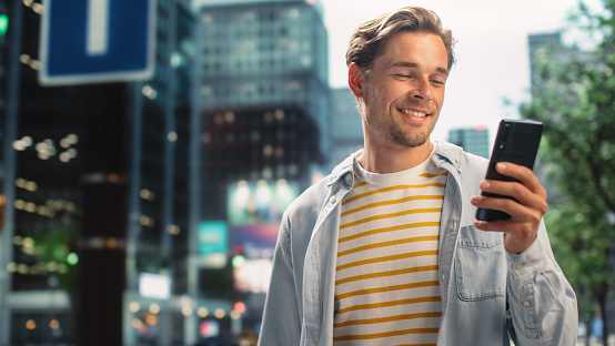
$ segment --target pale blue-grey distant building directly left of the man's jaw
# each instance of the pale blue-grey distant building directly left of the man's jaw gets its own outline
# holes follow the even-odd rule
[[[363,121],[349,88],[331,90],[330,170],[363,147]]]

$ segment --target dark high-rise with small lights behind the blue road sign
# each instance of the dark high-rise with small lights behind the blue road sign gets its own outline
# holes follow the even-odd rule
[[[0,0],[0,344],[193,342],[186,318],[232,306],[188,292],[200,212],[191,4],[155,2],[152,79],[63,86],[37,78],[44,10]]]

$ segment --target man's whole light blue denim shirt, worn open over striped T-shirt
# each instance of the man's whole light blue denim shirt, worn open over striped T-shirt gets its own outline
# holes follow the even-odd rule
[[[438,142],[433,162],[448,171],[440,230],[442,322],[438,345],[575,345],[576,296],[541,224],[522,254],[500,232],[474,228],[487,160]],[[333,344],[340,204],[353,185],[352,156],[285,211],[273,256],[261,346]]]

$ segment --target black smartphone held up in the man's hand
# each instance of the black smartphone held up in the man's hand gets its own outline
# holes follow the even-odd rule
[[[532,120],[511,120],[504,119],[500,122],[493,151],[491,153],[490,165],[486,180],[500,180],[506,182],[518,182],[514,177],[502,175],[495,171],[495,164],[498,162],[512,162],[524,165],[530,170],[534,169],[541,138],[543,136],[543,123]],[[482,192],[483,196],[497,199],[512,199],[495,193]],[[513,199],[514,200],[514,199]],[[480,207],[476,211],[476,220],[495,221],[508,220],[511,215],[501,211]]]

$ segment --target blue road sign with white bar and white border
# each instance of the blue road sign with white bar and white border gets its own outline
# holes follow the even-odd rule
[[[153,75],[155,0],[44,0],[43,8],[42,85]]]

